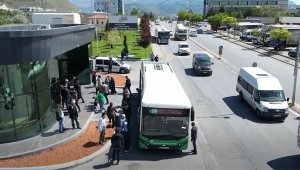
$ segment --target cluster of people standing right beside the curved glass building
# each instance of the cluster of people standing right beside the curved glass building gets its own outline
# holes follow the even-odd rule
[[[78,112],[81,111],[78,101],[79,99],[81,99],[82,103],[85,101],[82,97],[80,81],[77,77],[73,76],[71,81],[66,79],[64,84],[60,85],[60,88],[60,100],[57,101],[55,108],[56,120],[59,124],[59,132],[64,133],[66,130],[64,125],[64,106],[69,113],[72,128],[75,129],[76,124],[76,127],[81,129],[78,121]]]

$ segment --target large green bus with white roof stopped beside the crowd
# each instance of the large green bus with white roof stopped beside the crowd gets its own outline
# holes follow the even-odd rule
[[[194,110],[170,64],[143,62],[139,94],[139,148],[187,149]]]

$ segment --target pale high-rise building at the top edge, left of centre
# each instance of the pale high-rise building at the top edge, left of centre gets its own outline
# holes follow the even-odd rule
[[[124,0],[95,0],[94,7],[97,12],[125,14]]]

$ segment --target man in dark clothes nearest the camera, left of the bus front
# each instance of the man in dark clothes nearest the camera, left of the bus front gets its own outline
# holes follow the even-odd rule
[[[120,133],[120,129],[116,128],[116,133],[111,137],[111,144],[113,148],[112,162],[115,160],[115,155],[117,153],[117,164],[120,161],[120,150],[124,146],[124,138]]]

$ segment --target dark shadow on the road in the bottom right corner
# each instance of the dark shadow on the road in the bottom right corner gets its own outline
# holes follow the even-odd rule
[[[267,162],[272,169],[300,169],[300,155],[292,155]]]

